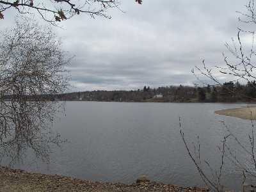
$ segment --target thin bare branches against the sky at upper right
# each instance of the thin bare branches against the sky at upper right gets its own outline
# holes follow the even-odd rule
[[[204,81],[200,80],[200,75],[207,77],[211,80],[211,85],[221,85],[223,86],[223,81],[220,80],[220,76],[227,77],[230,81],[241,82],[241,83],[250,83],[253,87],[255,84],[252,84],[256,80],[256,49],[255,49],[255,31],[253,29],[256,24],[255,18],[255,3],[254,0],[250,0],[246,4],[246,13],[238,12],[242,16],[239,17],[239,21],[242,24],[249,24],[247,30],[237,28],[237,37],[232,38],[231,43],[226,43],[225,47],[227,48],[228,54],[223,53],[224,66],[221,65],[212,65],[207,67],[205,60],[203,60],[203,67],[195,67],[192,70],[196,78],[203,84]],[[248,38],[251,39],[250,45],[248,44]],[[199,72],[199,73],[198,73]],[[232,92],[232,90],[229,90]],[[243,95],[244,97],[248,97]],[[255,98],[248,98],[255,100]]]

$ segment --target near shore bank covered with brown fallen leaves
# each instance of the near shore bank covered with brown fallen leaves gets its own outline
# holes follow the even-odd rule
[[[195,191],[206,192],[206,188],[183,188],[142,178],[134,184],[92,182],[60,175],[29,173],[0,166],[0,191]]]

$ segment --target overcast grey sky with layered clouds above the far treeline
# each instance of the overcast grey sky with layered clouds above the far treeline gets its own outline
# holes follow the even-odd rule
[[[123,0],[112,19],[77,15],[54,28],[76,57],[68,68],[72,91],[131,90],[189,84],[191,69],[222,65],[225,42],[237,35],[241,0]],[[13,17],[0,21],[0,29]]]

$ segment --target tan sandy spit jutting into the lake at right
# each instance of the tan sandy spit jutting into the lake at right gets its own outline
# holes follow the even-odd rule
[[[215,111],[218,115],[227,115],[227,116],[235,116],[238,118],[243,118],[247,120],[256,120],[256,107],[250,108],[236,108],[236,109],[224,109],[220,111]]]

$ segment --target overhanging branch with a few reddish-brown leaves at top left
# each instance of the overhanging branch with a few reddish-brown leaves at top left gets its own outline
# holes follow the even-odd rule
[[[136,0],[141,4],[141,0]],[[0,19],[4,19],[4,12],[14,8],[19,13],[39,13],[42,19],[48,22],[60,22],[70,19],[74,15],[86,13],[92,17],[102,16],[111,18],[106,11],[118,8],[116,0],[12,0],[0,1]],[[119,9],[119,8],[118,8]]]

